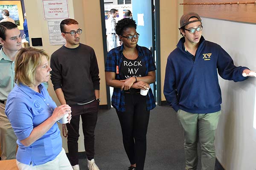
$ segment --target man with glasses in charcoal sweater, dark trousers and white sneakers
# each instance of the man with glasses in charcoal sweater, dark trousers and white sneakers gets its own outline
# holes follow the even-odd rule
[[[88,169],[99,170],[94,161],[94,129],[99,111],[99,68],[93,48],[81,44],[82,30],[73,19],[61,21],[61,35],[66,44],[51,56],[51,80],[61,105],[68,104],[72,119],[67,125],[70,163],[79,170],[79,120],[82,119],[84,148]]]

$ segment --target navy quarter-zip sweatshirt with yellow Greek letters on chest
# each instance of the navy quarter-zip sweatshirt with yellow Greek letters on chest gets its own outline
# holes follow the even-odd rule
[[[234,82],[243,81],[246,67],[236,67],[220,45],[202,36],[195,57],[185,51],[185,38],[167,59],[163,93],[177,112],[213,113],[221,110],[221,89],[218,74]],[[218,74],[217,74],[218,71]]]

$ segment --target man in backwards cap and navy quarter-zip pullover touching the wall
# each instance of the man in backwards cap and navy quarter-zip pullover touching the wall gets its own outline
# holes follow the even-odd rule
[[[202,170],[214,170],[215,129],[221,114],[218,74],[238,82],[247,79],[242,74],[249,75],[252,71],[236,67],[220,45],[204,40],[198,14],[184,14],[179,29],[183,37],[167,59],[163,93],[177,112],[184,131],[185,170],[197,168],[198,139]]]

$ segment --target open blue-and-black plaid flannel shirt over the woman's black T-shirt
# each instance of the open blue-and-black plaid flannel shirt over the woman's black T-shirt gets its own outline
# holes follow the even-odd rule
[[[136,48],[139,51],[139,57],[141,61],[145,63],[145,66],[146,66],[145,75],[148,75],[149,71],[156,70],[156,66],[154,64],[154,59],[152,57],[151,51],[148,50],[148,48],[141,47],[139,45],[137,45]],[[122,51],[123,51],[123,45],[113,48],[111,51],[108,52],[107,61],[105,63],[105,72],[116,73],[116,66],[120,68],[123,61],[124,56],[122,54]],[[120,80],[119,74],[116,74],[116,79]],[[114,108],[117,109],[117,111],[125,112],[124,91],[121,91],[120,88],[114,88],[111,104]],[[156,106],[151,88],[149,89],[148,94],[146,96],[146,104],[147,104],[148,111],[153,109]]]

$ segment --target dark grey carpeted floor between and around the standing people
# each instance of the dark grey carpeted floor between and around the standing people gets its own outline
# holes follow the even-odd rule
[[[183,132],[175,111],[169,106],[157,106],[150,114],[144,170],[184,170]],[[95,161],[100,170],[128,170],[129,160],[123,148],[121,127],[113,108],[99,111],[95,152]],[[79,159],[79,164],[81,170],[87,170],[86,158]],[[198,170],[201,170],[200,163]],[[218,162],[215,170],[223,170]]]

